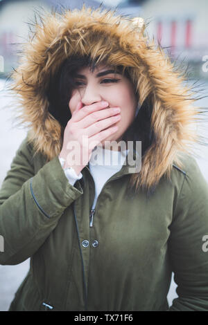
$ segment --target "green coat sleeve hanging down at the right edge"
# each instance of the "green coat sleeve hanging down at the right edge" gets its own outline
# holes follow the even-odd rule
[[[168,250],[178,297],[168,310],[208,310],[208,185],[193,157],[170,230]]]

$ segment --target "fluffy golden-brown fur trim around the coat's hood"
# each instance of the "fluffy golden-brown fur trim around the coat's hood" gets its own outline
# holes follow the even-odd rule
[[[19,66],[12,73],[11,90],[19,94],[21,123],[28,124],[29,140],[36,151],[51,160],[62,148],[61,126],[49,113],[45,89],[64,59],[71,55],[107,58],[110,65],[131,67],[139,104],[150,95],[153,104],[153,142],[141,165],[141,185],[151,187],[173,163],[182,168],[179,153],[190,153],[198,142],[192,126],[200,109],[193,91],[184,86],[185,75],[177,71],[162,47],[155,46],[142,18],[114,15],[113,10],[63,10],[47,12],[35,24],[24,44]]]

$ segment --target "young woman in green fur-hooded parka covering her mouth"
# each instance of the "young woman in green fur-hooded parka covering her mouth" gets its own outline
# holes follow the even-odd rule
[[[189,151],[200,109],[145,26],[49,14],[12,78],[29,129],[0,191],[0,263],[31,267],[9,310],[208,310],[208,186]]]

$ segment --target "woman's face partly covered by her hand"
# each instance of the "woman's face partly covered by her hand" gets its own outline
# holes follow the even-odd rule
[[[137,99],[132,82],[119,73],[105,73],[105,71],[111,69],[110,66],[101,64],[94,70],[94,73],[89,71],[88,67],[80,68],[76,72],[76,76],[79,76],[74,77],[75,88],[69,100],[71,113],[75,111],[80,100],[83,102],[83,106],[105,100],[109,103],[108,107],[119,106],[121,108],[121,120],[114,124],[119,129],[105,138],[101,142],[102,145],[105,145],[105,141],[119,141],[122,139],[123,133],[135,119],[137,109]],[[99,73],[103,73],[103,75],[99,76]]]

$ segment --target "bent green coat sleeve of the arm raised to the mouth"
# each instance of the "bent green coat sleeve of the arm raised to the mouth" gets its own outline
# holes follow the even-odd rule
[[[31,257],[83,189],[69,184],[58,156],[34,173],[33,148],[21,142],[0,189],[1,265]]]

